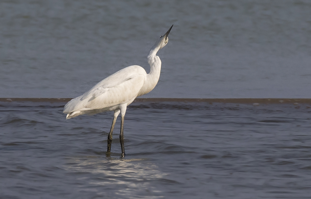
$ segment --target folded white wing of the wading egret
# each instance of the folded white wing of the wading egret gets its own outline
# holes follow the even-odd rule
[[[72,99],[65,105],[63,112],[103,109],[127,103],[137,97],[145,77],[146,71],[142,67],[126,67],[100,81],[83,95]]]

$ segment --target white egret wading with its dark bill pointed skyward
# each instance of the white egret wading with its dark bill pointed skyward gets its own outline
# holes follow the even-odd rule
[[[123,123],[126,108],[137,96],[149,93],[158,83],[161,71],[161,60],[156,53],[163,48],[169,38],[169,31],[173,25],[153,45],[147,61],[150,65],[150,73],[145,69],[133,65],[108,76],[97,83],[91,90],[83,95],[70,100],[64,107],[66,119],[74,118],[82,114],[93,115],[105,111],[114,111],[114,119],[108,134],[108,148],[110,152],[112,132],[119,113],[121,113],[120,143],[122,156],[124,156]]]

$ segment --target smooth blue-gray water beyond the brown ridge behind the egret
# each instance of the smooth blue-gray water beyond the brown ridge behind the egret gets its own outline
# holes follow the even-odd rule
[[[145,97],[310,98],[311,2],[0,1],[0,97],[77,97],[158,53]]]

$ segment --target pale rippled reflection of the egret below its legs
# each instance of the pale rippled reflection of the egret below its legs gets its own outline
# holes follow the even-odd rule
[[[66,164],[66,169],[72,172],[70,175],[77,175],[77,180],[81,180],[81,191],[119,198],[163,198],[161,191],[150,184],[166,175],[155,164],[146,159],[101,158],[71,158]]]

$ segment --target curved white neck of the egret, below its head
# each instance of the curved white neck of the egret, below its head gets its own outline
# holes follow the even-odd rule
[[[156,53],[159,51],[160,46],[154,45],[147,56],[147,61],[150,65],[150,72],[146,76],[146,81],[141,89],[139,95],[149,93],[158,83],[161,72],[161,60]]]

